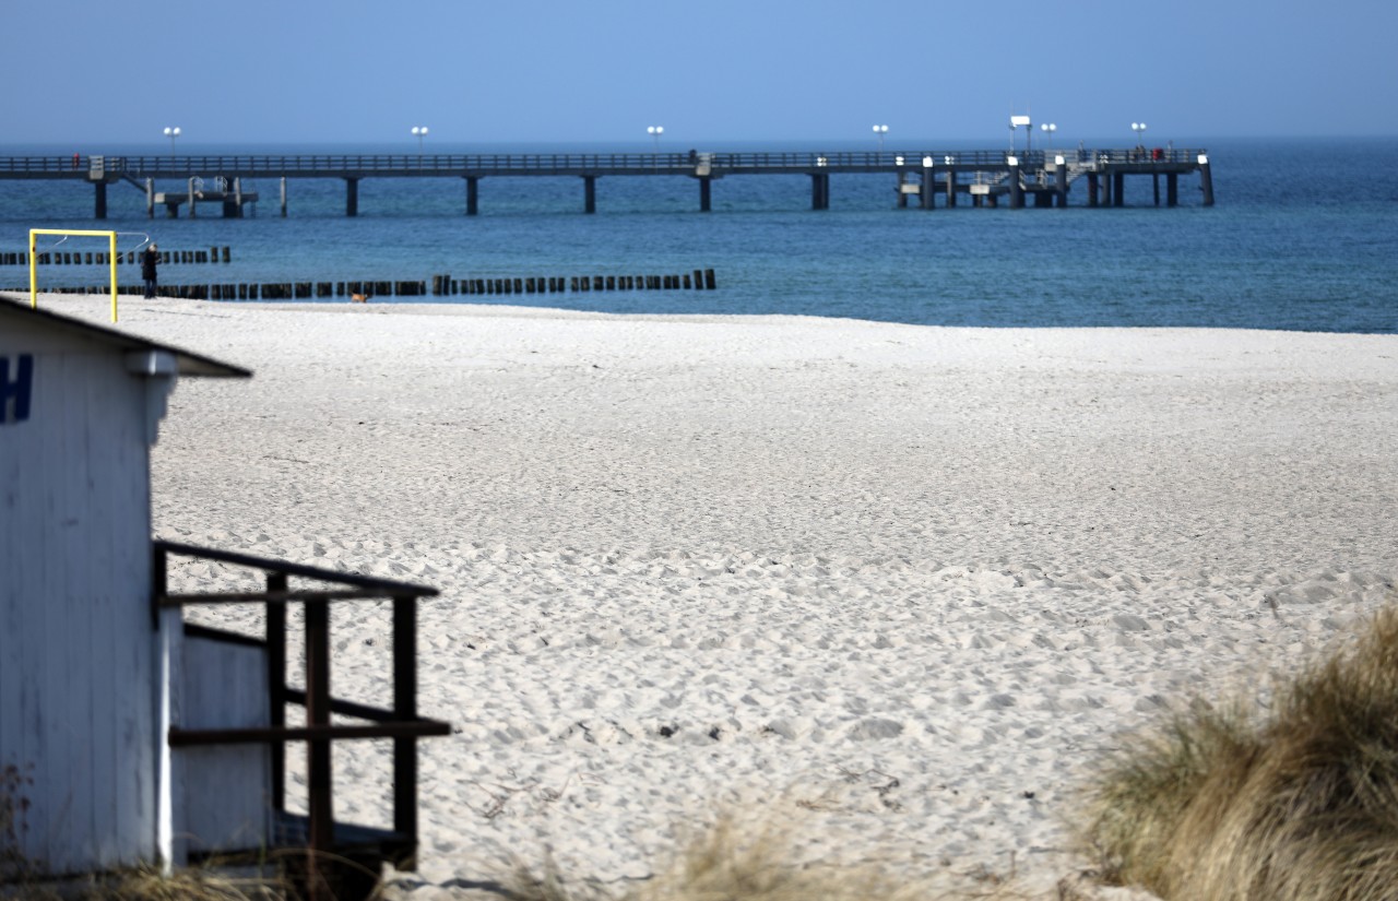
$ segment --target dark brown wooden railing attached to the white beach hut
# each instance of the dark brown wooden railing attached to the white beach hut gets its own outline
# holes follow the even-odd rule
[[[358,830],[362,840],[373,841],[384,859],[400,869],[412,869],[418,847],[418,756],[417,740],[450,735],[450,724],[419,717],[417,712],[417,602],[438,594],[435,588],[337,573],[211,548],[175,542],[152,542],[154,578],[151,615],[158,623],[164,609],[192,605],[260,603],[266,608],[263,638],[229,633],[207,626],[186,624],[186,634],[233,644],[253,644],[266,650],[270,725],[266,728],[182,729],[172,726],[172,747],[207,745],[267,745],[271,752],[271,806],[280,823],[280,837],[308,848],[308,884],[312,897],[329,897],[324,879],[316,873],[345,840],[337,838],[333,817],[333,774],[330,745],[343,739],[393,739],[393,828],[391,831]],[[266,574],[266,591],[172,594],[168,589],[169,557],[197,557]],[[315,580],[322,587],[289,587],[289,578]],[[329,585],[329,587],[323,587]],[[330,602],[387,598],[393,605],[393,707],[389,710],[334,698],[330,694]],[[287,684],[287,605],[305,608],[305,690]],[[288,726],[287,704],[306,710],[303,726]],[[331,724],[331,715],[362,719],[368,725]],[[285,807],[285,746],[306,742],[308,817],[306,828],[288,827]],[[344,830],[341,830],[344,833]]]

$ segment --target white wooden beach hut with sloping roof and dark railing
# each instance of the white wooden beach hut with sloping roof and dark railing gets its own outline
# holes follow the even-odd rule
[[[411,866],[414,742],[449,731],[415,712],[412,610],[436,592],[154,542],[150,448],[179,376],[250,373],[0,299],[0,881],[277,847]],[[267,591],[172,595],[171,555],[259,569]],[[389,711],[329,693],[326,605],[370,596],[393,601]],[[266,605],[266,637],[183,622],[211,602]],[[303,691],[285,677],[292,602]],[[288,704],[305,725],[285,725]],[[391,830],[331,820],[330,742],[345,738],[396,740]],[[288,742],[308,747],[302,817],[285,810]]]

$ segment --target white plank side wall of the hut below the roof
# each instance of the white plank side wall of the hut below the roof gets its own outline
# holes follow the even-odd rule
[[[0,423],[0,842],[50,873],[157,852],[150,457],[120,349],[8,327],[29,415]],[[0,386],[0,398],[4,398]]]

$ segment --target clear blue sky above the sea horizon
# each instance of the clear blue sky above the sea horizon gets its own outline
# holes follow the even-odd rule
[[[1394,0],[7,3],[0,144],[1398,135]],[[24,87],[21,87],[21,80]],[[1044,135],[1036,134],[1037,140]]]

